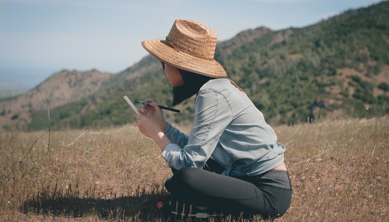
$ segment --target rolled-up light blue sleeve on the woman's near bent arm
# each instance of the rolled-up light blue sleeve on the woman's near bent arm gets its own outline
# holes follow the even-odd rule
[[[231,120],[232,112],[224,96],[212,90],[200,91],[195,102],[195,123],[187,137],[186,145],[181,147],[184,143],[182,135],[178,136],[181,139],[170,138],[178,134],[168,125],[165,134],[174,144],[168,145],[162,156],[170,167],[176,169],[203,167]],[[176,142],[178,144],[175,144]]]

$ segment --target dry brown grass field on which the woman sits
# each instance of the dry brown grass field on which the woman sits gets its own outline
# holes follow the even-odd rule
[[[388,221],[388,117],[274,129],[293,185],[276,222]],[[44,131],[0,132],[0,221],[161,221],[171,175],[132,125],[51,131],[50,144]]]

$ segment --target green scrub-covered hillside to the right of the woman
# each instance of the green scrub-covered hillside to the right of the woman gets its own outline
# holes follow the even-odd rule
[[[267,119],[382,115],[389,111],[388,20],[382,2],[301,29],[260,28],[261,37],[232,51],[233,43],[219,44],[218,57]]]

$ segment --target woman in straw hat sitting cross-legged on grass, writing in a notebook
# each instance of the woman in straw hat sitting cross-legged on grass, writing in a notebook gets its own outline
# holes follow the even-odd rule
[[[172,201],[162,212],[176,219],[282,216],[292,196],[285,147],[213,59],[216,39],[210,27],[177,19],[165,40],[142,42],[162,62],[173,105],[196,94],[189,135],[167,123],[153,100],[145,100],[150,106],[142,106],[142,115],[135,114],[135,125],[158,144],[174,172],[165,182]]]

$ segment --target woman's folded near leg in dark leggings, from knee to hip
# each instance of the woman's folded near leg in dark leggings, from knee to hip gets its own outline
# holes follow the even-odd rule
[[[281,216],[286,209],[279,209],[279,196],[291,197],[291,189],[260,189],[253,183],[191,167],[178,170],[165,187],[175,200],[206,205],[225,213],[260,214],[264,218]]]

